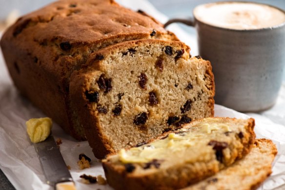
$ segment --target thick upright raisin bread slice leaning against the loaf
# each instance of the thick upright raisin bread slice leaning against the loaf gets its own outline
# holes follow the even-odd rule
[[[211,65],[182,42],[128,41],[90,57],[70,95],[97,158],[213,116]]]

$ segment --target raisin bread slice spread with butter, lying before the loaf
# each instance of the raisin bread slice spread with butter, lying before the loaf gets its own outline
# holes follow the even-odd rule
[[[117,190],[184,188],[233,164],[255,139],[254,120],[206,118],[103,160]]]

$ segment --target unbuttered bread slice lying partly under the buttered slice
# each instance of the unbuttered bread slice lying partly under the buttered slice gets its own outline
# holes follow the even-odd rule
[[[255,190],[270,175],[276,154],[272,141],[257,139],[244,158],[183,190]]]

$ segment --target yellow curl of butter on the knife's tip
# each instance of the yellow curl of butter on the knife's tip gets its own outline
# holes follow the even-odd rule
[[[32,143],[39,143],[50,135],[52,120],[48,117],[33,118],[26,122],[26,126]]]

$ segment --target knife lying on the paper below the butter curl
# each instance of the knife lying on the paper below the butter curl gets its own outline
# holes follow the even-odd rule
[[[70,185],[73,185],[74,189],[72,190],[75,190],[72,177],[65,165],[54,137],[50,135],[46,140],[40,143],[35,143],[34,147],[38,153],[41,167],[46,178],[46,183],[54,186],[56,190],[62,188],[71,189],[72,187],[67,187]]]

